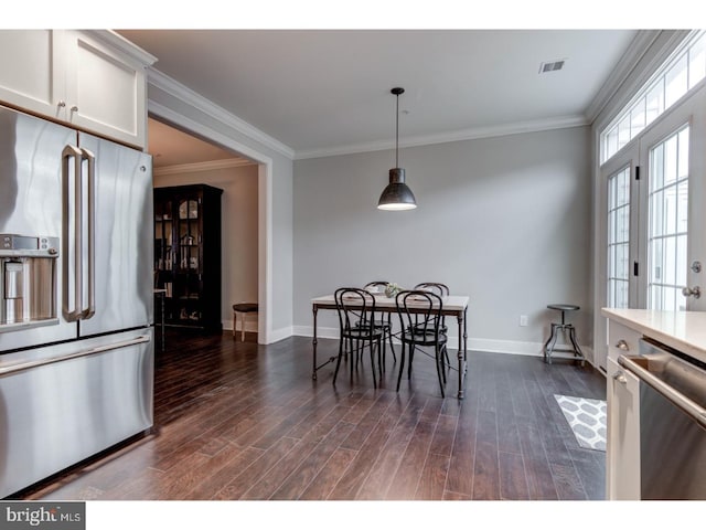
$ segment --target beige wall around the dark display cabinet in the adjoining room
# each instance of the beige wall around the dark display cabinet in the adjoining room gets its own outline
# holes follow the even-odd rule
[[[257,166],[159,174],[156,188],[184,184],[210,184],[223,190],[221,197],[222,237],[222,307],[225,329],[233,328],[233,304],[257,301]],[[257,331],[255,318],[247,319],[246,329]]]

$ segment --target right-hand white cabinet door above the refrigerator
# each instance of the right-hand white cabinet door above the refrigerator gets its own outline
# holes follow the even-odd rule
[[[64,45],[66,119],[76,127],[143,147],[145,64],[78,31],[66,31]]]

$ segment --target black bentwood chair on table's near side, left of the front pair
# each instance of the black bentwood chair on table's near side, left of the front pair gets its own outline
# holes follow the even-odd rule
[[[353,365],[359,365],[365,346],[371,351],[371,370],[373,372],[373,386],[377,388],[375,379],[375,351],[378,357],[378,370],[382,380],[382,367],[379,362],[383,330],[375,322],[375,297],[357,287],[341,287],[334,293],[335,307],[339,314],[341,336],[339,339],[339,358],[333,372],[333,384],[339,375],[341,360],[349,357],[351,381],[353,381]]]

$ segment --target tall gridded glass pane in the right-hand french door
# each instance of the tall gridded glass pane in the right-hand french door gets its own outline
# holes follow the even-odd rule
[[[650,151],[648,307],[684,310],[686,282],[688,126]]]

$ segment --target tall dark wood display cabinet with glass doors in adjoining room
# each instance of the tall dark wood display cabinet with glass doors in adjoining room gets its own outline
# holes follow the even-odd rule
[[[221,195],[206,184],[154,189],[154,288],[167,326],[221,332]]]

